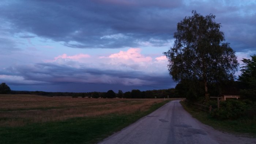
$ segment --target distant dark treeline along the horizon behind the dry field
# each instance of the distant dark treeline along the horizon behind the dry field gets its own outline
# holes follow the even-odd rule
[[[118,90],[115,93],[113,90],[108,92],[45,92],[45,91],[11,91],[11,94],[34,94],[43,96],[71,96],[73,98],[179,98],[180,96],[175,91],[175,88],[165,90],[132,90],[123,92]]]

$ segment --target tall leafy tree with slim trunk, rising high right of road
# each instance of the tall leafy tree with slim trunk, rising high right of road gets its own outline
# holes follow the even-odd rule
[[[192,16],[177,24],[174,45],[163,53],[172,79],[202,83],[206,99],[208,84],[233,79],[238,67],[234,50],[219,30],[221,24],[214,19],[212,14],[203,16],[192,11]]]

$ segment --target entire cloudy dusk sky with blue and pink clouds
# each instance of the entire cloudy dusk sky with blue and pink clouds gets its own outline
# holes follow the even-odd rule
[[[49,92],[174,88],[162,53],[177,23],[192,10],[215,15],[242,64],[256,54],[255,7],[256,0],[0,0],[0,83]]]

